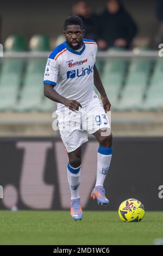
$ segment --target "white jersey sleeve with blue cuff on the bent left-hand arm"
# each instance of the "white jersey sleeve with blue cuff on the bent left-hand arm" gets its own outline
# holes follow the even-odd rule
[[[43,84],[51,84],[52,86],[56,86],[57,78],[59,73],[59,62],[58,60],[48,58],[45,74],[43,78]]]

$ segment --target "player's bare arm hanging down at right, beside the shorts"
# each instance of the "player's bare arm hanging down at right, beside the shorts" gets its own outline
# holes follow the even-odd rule
[[[105,112],[107,112],[107,111],[110,110],[111,104],[110,104],[110,101],[109,101],[109,99],[106,95],[106,92],[105,92],[103,83],[101,81],[101,77],[99,75],[98,69],[96,68],[96,65],[94,66],[93,71],[94,71],[94,73],[93,73],[94,84],[95,84],[98,92],[101,95],[101,100],[103,102],[103,107],[105,109]]]

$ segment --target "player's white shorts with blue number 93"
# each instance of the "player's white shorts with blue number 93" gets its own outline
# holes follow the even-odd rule
[[[87,142],[88,133],[92,134],[102,129],[102,136],[107,136],[108,131],[111,131],[110,118],[106,115],[97,96],[88,105],[79,108],[79,111],[74,112],[65,107],[64,111],[57,109],[56,113],[61,139],[67,153]],[[109,129],[106,131],[106,128]]]

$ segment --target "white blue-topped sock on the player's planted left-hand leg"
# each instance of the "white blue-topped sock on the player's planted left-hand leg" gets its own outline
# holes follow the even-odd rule
[[[80,173],[80,166],[73,168],[70,166],[70,163],[68,163],[67,178],[70,185],[71,199],[79,198]]]

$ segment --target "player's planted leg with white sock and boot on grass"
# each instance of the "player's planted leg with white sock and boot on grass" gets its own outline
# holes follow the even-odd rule
[[[80,166],[82,162],[82,146],[68,153],[69,163],[67,167],[67,178],[71,191],[71,217],[75,220],[82,220],[83,212],[79,196]]]

